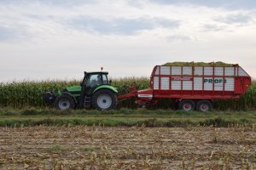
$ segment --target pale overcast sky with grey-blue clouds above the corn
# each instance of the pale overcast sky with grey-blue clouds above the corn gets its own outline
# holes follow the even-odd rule
[[[149,77],[172,61],[238,63],[256,78],[254,0],[0,0],[0,82]]]

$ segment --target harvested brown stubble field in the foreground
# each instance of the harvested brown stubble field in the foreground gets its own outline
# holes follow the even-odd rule
[[[255,169],[256,129],[0,127],[0,169]]]

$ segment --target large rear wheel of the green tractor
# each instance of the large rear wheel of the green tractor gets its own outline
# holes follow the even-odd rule
[[[115,109],[117,106],[117,96],[109,89],[100,89],[92,95],[92,105],[100,111]]]

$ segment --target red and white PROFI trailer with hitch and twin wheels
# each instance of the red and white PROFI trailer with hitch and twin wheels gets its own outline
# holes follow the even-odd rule
[[[206,107],[207,110],[212,109],[213,99],[240,98],[251,82],[251,77],[239,65],[156,65],[149,88],[138,91],[131,88],[130,94],[121,95],[119,99],[134,96],[138,105],[154,104],[163,98],[176,99],[180,109],[189,107],[188,110],[197,108],[203,111]]]

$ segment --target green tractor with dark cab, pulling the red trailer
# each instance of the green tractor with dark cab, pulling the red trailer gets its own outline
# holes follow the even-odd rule
[[[111,110],[117,106],[117,88],[108,82],[108,72],[84,72],[80,86],[59,90],[57,94],[47,92],[44,99],[54,103],[58,110],[94,107],[97,110]]]

